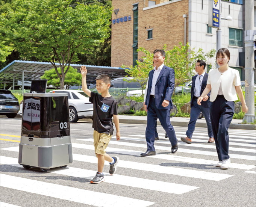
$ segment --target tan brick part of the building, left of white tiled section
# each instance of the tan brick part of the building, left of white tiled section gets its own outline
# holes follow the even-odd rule
[[[137,59],[135,50],[144,47],[153,52],[167,44],[167,49],[172,45],[184,44],[184,18],[188,15],[188,0],[174,1],[157,0],[155,5],[149,6],[154,1],[142,0],[112,0],[112,6],[119,9],[112,14],[112,51],[111,66],[132,65]],[[138,14],[138,18],[134,16]],[[129,17],[126,22],[113,23],[113,20]],[[134,26],[138,21],[138,24]],[[138,30],[136,31],[136,29]],[[188,24],[186,25],[188,31]],[[186,32],[188,37],[188,32]],[[182,34],[182,35],[180,35]],[[136,36],[138,35],[138,36]],[[188,40],[188,38],[187,38]],[[138,57],[142,54],[138,54]]]

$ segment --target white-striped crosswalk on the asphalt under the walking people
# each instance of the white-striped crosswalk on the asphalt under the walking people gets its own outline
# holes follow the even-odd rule
[[[177,137],[184,134],[176,131]],[[13,156],[9,157],[2,153],[0,156],[1,174],[0,185],[8,189],[32,193],[40,196],[48,196],[66,200],[70,202],[84,204],[86,206],[103,207],[147,207],[158,206],[157,201],[145,199],[144,196],[135,195],[131,192],[137,190],[147,190],[151,193],[167,193],[182,195],[188,192],[195,192],[204,187],[204,182],[216,183],[232,179],[237,172],[241,174],[255,174],[256,160],[256,138],[255,131],[230,130],[229,155],[231,159],[230,170],[216,170],[214,165],[217,163],[217,153],[214,144],[207,143],[207,131],[195,131],[192,144],[179,142],[179,150],[176,154],[170,154],[170,142],[164,138],[165,134],[159,133],[159,141],[155,141],[156,156],[140,157],[140,153],[145,150],[145,135],[132,134],[121,137],[121,141],[112,141],[107,148],[111,156],[122,157],[118,163],[117,173],[109,175],[109,163],[105,162],[105,182],[97,185],[87,184],[68,185],[67,183],[51,182],[46,180],[47,176],[64,176],[69,180],[83,180],[88,183],[95,175],[97,158],[94,156],[93,139],[77,138],[72,142],[73,163],[65,169],[53,168],[46,173],[38,173],[36,178],[28,175],[12,174],[5,171],[5,168],[13,168],[14,171],[27,173],[35,169],[24,169],[18,164],[18,143],[15,147],[1,148],[2,152],[10,152]],[[79,167],[77,163],[83,163]],[[247,164],[249,163],[249,164]],[[176,165],[175,165],[176,164]],[[89,166],[95,166],[92,170]],[[189,166],[196,165],[198,168]],[[88,166],[88,168],[86,167]],[[200,167],[201,166],[201,167]],[[170,180],[161,180],[144,174],[157,174],[160,177],[170,177]],[[45,177],[44,177],[45,175]],[[37,178],[39,177],[39,178]],[[173,178],[173,179],[172,179]],[[174,179],[175,178],[175,179]],[[196,180],[196,182],[195,182]],[[108,191],[101,192],[98,187],[104,188],[109,184]],[[97,188],[97,189],[96,189]],[[127,193],[114,193],[115,189],[128,189]],[[96,199],[100,198],[100,199]],[[1,207],[15,207],[20,205],[0,202]],[[23,205],[21,205],[23,206]]]

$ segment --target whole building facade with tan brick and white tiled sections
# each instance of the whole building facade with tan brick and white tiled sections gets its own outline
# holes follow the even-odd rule
[[[256,1],[254,17],[256,17]],[[179,42],[204,52],[217,48],[217,28],[208,26],[209,0],[112,0],[111,66],[134,65],[143,56],[136,52],[144,47],[153,52],[167,50]],[[244,80],[244,0],[221,1],[221,47],[230,51],[229,65],[240,72]],[[254,20],[254,29],[256,23]],[[215,58],[207,64],[215,65]],[[209,69],[209,68],[208,68]]]

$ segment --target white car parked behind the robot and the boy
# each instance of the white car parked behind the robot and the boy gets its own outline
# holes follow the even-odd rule
[[[54,90],[49,93],[68,94],[69,121],[93,117],[93,104],[89,102],[88,95],[79,90]]]

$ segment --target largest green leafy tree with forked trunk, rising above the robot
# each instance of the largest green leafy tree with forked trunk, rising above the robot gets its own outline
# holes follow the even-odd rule
[[[52,63],[61,89],[71,61],[79,61],[78,53],[90,54],[109,37],[111,7],[73,3],[72,0],[15,0],[3,21],[4,33],[21,57]]]

